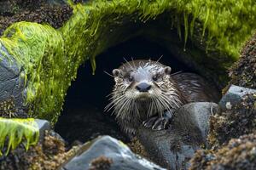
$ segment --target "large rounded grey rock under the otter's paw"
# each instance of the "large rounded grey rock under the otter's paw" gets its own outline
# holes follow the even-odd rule
[[[183,105],[175,114],[171,127],[153,131],[140,127],[138,139],[147,150],[150,159],[168,169],[187,169],[189,159],[201,144],[207,144],[209,118],[218,111],[218,105],[195,102]]]

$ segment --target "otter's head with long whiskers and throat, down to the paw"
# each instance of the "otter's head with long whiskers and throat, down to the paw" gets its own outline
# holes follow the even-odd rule
[[[115,85],[106,110],[113,108],[119,122],[141,122],[177,109],[182,101],[171,71],[171,67],[152,60],[134,60],[114,69]]]

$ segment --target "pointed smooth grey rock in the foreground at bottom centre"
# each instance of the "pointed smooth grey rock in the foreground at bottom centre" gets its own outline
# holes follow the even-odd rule
[[[99,163],[98,168],[95,167],[96,163]],[[110,136],[103,136],[95,139],[90,144],[84,144],[81,147],[80,153],[67,162],[67,164],[62,167],[62,170],[103,170],[103,167],[110,170],[163,169],[154,163],[135,155],[119,140],[113,139]]]

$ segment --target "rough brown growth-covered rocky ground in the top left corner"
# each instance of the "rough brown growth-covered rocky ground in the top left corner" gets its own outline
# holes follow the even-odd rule
[[[50,4],[47,0],[0,1],[0,35],[12,23],[19,21],[37,22],[59,28],[73,14],[67,4]]]

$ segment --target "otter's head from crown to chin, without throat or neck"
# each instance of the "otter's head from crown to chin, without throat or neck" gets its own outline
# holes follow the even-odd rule
[[[168,91],[166,83],[163,82],[169,80],[171,67],[153,61],[138,62],[137,65],[126,63],[113,70],[116,90],[125,98],[137,101],[151,100]]]

